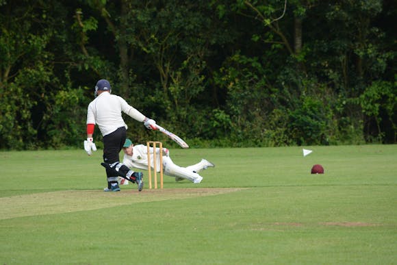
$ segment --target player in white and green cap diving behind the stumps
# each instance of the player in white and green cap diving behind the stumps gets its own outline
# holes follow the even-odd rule
[[[125,140],[125,144],[123,146],[123,151],[124,151],[124,158],[123,158],[123,164],[125,166],[128,166],[129,168],[140,168],[140,169],[146,169],[148,168],[148,153],[147,153],[147,147],[144,144],[138,144],[138,145],[133,145],[131,140],[127,139]],[[159,172],[159,164],[160,164],[160,158],[159,158],[159,153],[160,149],[157,147],[156,150],[154,150],[153,147],[149,148],[149,155],[151,155],[151,168],[154,170],[154,162],[153,162],[153,152],[156,152],[156,171]],[[203,171],[203,169],[207,169],[208,167],[213,167],[214,164],[211,162],[208,162],[207,160],[203,159],[199,163],[194,164],[192,166],[187,166],[187,167],[181,167],[177,166],[172,162],[171,157],[170,157],[170,152],[168,149],[163,148],[163,169],[164,169],[164,174],[168,175],[170,177],[175,177],[176,181],[181,181],[183,179],[188,179],[189,181],[192,181],[195,184],[199,184],[202,180],[203,177],[199,175],[198,173],[200,171]],[[128,181],[125,181],[124,179],[119,179],[121,184],[128,184]]]

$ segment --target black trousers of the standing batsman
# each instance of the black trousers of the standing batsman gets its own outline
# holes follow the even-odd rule
[[[120,162],[120,151],[123,149],[125,139],[127,138],[127,129],[120,127],[113,131],[112,134],[103,136],[103,162],[113,164]],[[107,177],[115,177],[106,170]]]

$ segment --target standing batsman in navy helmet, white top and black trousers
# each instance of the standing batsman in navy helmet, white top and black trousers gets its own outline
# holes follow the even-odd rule
[[[103,163],[106,168],[107,188],[105,192],[120,191],[118,177],[123,177],[138,184],[138,190],[143,188],[143,174],[131,171],[123,163],[120,163],[119,153],[127,138],[127,125],[121,113],[129,115],[136,121],[144,123],[148,129],[157,129],[155,121],[146,118],[142,113],[129,105],[123,98],[111,94],[112,88],[109,81],[101,79],[95,86],[95,99],[88,105],[87,112],[87,140],[84,141],[84,149],[88,155],[97,151],[92,135],[97,124],[103,136]]]

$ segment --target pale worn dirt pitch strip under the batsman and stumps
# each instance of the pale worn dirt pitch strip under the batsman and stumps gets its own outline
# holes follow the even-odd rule
[[[43,214],[62,214],[98,210],[133,203],[170,201],[192,197],[214,196],[244,188],[173,188],[157,190],[62,190],[0,198],[0,220]]]

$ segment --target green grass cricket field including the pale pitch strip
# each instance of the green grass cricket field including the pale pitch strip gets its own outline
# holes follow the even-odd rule
[[[101,150],[0,152],[0,263],[397,264],[397,145],[305,148],[172,149],[216,167],[142,192]]]

